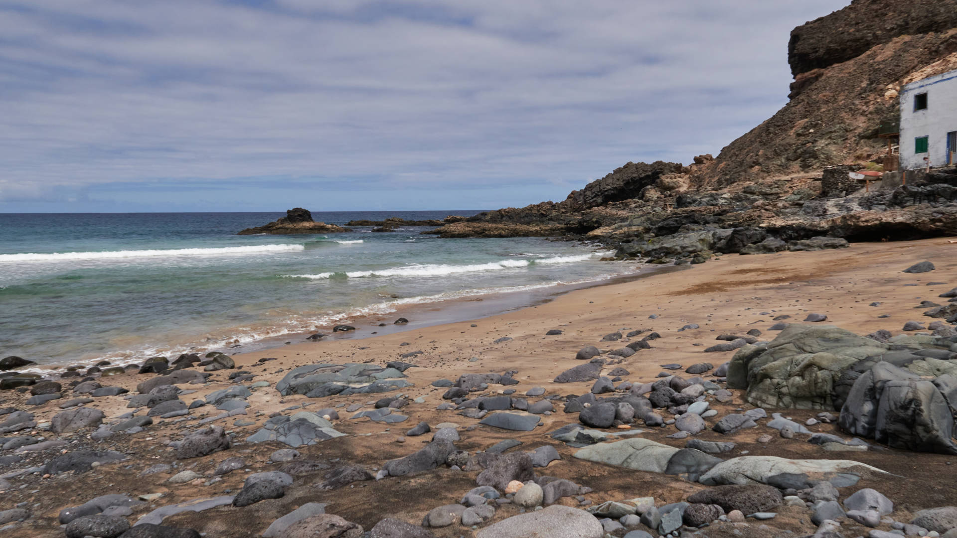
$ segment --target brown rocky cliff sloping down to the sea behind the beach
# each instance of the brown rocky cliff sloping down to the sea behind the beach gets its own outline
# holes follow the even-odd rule
[[[587,235],[619,246],[622,258],[806,250],[800,241],[821,235],[957,234],[952,174],[869,193],[853,181],[821,185],[825,168],[882,162],[877,127],[899,113],[902,84],[957,69],[957,0],[855,0],[794,29],[789,61],[790,102],[717,158],[628,163],[562,202],[481,213],[433,233]]]

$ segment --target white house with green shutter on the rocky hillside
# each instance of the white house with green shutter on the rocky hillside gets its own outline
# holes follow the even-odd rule
[[[957,164],[957,71],[901,89],[901,169]]]

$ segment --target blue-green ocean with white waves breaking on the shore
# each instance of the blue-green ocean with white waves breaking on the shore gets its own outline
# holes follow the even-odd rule
[[[345,225],[475,213],[313,217]],[[235,235],[283,215],[0,213],[0,356],[125,364],[248,350],[417,305],[560,290],[638,268],[599,261],[608,253],[581,242],[419,234],[428,228]]]

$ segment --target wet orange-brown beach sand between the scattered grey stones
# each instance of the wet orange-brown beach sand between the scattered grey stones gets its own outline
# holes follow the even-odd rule
[[[708,362],[717,367],[730,360],[734,353],[703,351],[705,347],[716,344],[715,338],[718,335],[744,334],[749,329],[757,328],[764,333],[761,339],[770,340],[775,336],[774,332],[768,332],[768,327],[775,323],[772,318],[782,315],[791,316],[787,320],[789,323],[800,323],[808,314],[819,313],[828,316],[826,324],[837,325],[857,334],[864,335],[878,329],[888,329],[899,334],[907,321],[931,321],[922,316],[922,309],[915,309],[921,301],[946,301],[937,299],[937,296],[957,286],[955,249],[957,244],[950,244],[945,238],[937,238],[893,243],[856,243],[851,248],[835,251],[723,256],[701,265],[688,265],[680,270],[662,272],[639,280],[571,291],[546,303],[467,322],[410,326],[401,332],[367,337],[378,329],[379,323],[391,324],[395,316],[390,315],[389,318],[381,320],[364,320],[361,325],[356,325],[354,333],[329,336],[320,342],[299,342],[234,355],[237,369],[256,373],[255,381],[268,381],[271,386],[256,389],[249,397],[249,415],[227,418],[215,424],[236,432],[236,440],[242,441],[261,427],[269,415],[292,406],[311,402],[313,406],[307,409],[318,410],[343,404],[359,404],[363,406],[362,410],[369,410],[372,409],[371,402],[380,397],[406,394],[410,400],[422,397],[424,403],[412,402],[402,408],[399,413],[410,417],[405,422],[384,424],[369,421],[367,418],[350,419],[349,416],[353,414],[345,413],[344,406],[339,409],[341,418],[333,423],[337,430],[348,435],[302,446],[298,449],[302,458],[322,460],[330,466],[343,462],[357,463],[366,466],[375,474],[373,469],[381,468],[387,460],[411,454],[432,438],[431,434],[404,437],[405,432],[419,421],[427,421],[433,427],[439,422],[455,422],[461,426],[461,440],[456,442],[456,446],[469,453],[484,450],[507,438],[523,442],[518,450],[531,450],[544,444],[553,445],[562,460],[551,463],[547,468],[536,469],[537,473],[566,478],[589,486],[593,491],[585,495],[585,498],[594,504],[645,496],[655,497],[659,504],[679,502],[703,486],[684,482],[677,477],[631,471],[572,458],[575,449],[546,435],[561,426],[578,421],[577,414],[566,415],[562,412],[561,401],[555,402],[555,413],[541,416],[544,425],[532,432],[509,432],[484,426],[467,431],[466,427],[477,424],[479,420],[457,415],[456,411],[436,411],[436,406],[445,401],[441,395],[446,389],[435,388],[430,384],[440,378],[454,381],[463,373],[501,373],[517,370],[514,378],[520,382],[519,385],[490,385],[488,392],[476,392],[473,395],[515,389],[515,396],[523,396],[524,392],[532,387],[545,388],[545,395],[589,392],[592,382],[556,384],[551,381],[558,373],[582,364],[581,361],[575,360],[575,353],[581,347],[623,347],[629,339],[600,342],[603,335],[616,330],[627,332],[649,328],[661,335],[661,338],[651,342],[653,348],[641,349],[611,367],[629,370],[630,375],[623,377],[634,383],[653,381],[662,370],[660,365],[668,363],[679,363],[683,368],[687,368],[695,363]],[[935,271],[924,274],[901,272],[913,263],[925,259],[936,265]],[[945,283],[926,285],[928,282]],[[879,302],[880,305],[871,306],[870,303],[873,302]],[[879,318],[883,314],[889,314],[890,317]],[[657,317],[652,319],[652,315]],[[411,325],[414,323],[415,320],[412,319]],[[700,327],[679,331],[682,326],[688,324],[698,324]],[[561,329],[563,334],[545,336],[549,329]],[[495,343],[502,337],[512,340]],[[403,345],[404,343],[409,344]],[[423,353],[400,359],[400,354],[416,350]],[[257,361],[264,357],[276,357],[277,360],[258,364]],[[319,399],[300,395],[283,397],[273,388],[284,372],[301,365],[351,362],[384,366],[394,360],[404,360],[416,365],[417,368],[405,372],[414,387],[382,394],[336,395]],[[227,379],[233,371],[215,372],[211,383],[205,386],[181,386],[197,390],[182,398],[189,403],[209,392],[233,386]],[[683,371],[678,373],[688,375]],[[151,376],[152,374],[114,376],[109,384],[121,385],[135,392],[136,384]],[[104,382],[104,385],[106,384]],[[776,435],[777,432],[764,426],[744,430],[734,436],[722,436],[711,431],[710,426],[717,418],[738,408],[753,407],[744,402],[741,391],[733,392],[734,399],[728,404],[712,402],[712,408],[717,409],[719,415],[707,418],[705,421],[708,429],[698,436],[706,440],[732,440],[738,443],[731,454],[723,457],[738,456],[742,451],[747,451],[750,455],[850,459],[875,465],[890,471],[893,476],[869,479],[865,481],[866,485],[865,482],[861,482],[861,485],[874,487],[891,497],[897,503],[894,515],[898,521],[904,521],[903,518],[910,510],[957,505],[957,488],[937,480],[942,474],[951,474],[953,467],[949,466],[949,462],[954,460],[954,457],[897,450],[827,453],[810,443],[795,442],[801,440],[798,438],[782,439]],[[22,402],[16,398],[25,396],[12,394],[15,392],[0,394],[0,398],[7,399],[4,405],[22,409]],[[537,399],[530,398],[529,401]],[[57,402],[58,400],[55,400],[31,410],[37,415],[37,421],[48,420],[59,412]],[[125,401],[120,397],[98,398],[98,401],[91,405],[102,409],[107,417],[122,415],[128,411],[124,407]],[[771,411],[768,409],[768,414]],[[204,417],[218,413],[207,406],[193,411],[192,415]],[[296,411],[283,412],[285,415],[293,413]],[[803,422],[818,412],[789,410],[784,413]],[[670,417],[665,415],[666,418]],[[256,424],[236,427],[234,420],[237,418],[255,421]],[[190,425],[189,428],[194,426],[192,421],[175,423],[173,420],[156,420],[156,424],[144,433],[109,437],[96,445],[98,449],[111,448],[126,452],[131,454],[136,464],[129,465],[128,468],[124,466],[128,465],[128,462],[103,465],[89,473],[77,476],[61,475],[50,479],[31,475],[33,478],[23,480],[32,485],[8,491],[8,498],[0,505],[0,509],[20,502],[36,503],[33,511],[37,518],[32,520],[32,524],[22,527],[20,530],[24,533],[20,535],[61,536],[62,531],[55,521],[58,510],[80,504],[95,495],[121,492],[142,495],[161,492],[164,497],[154,504],[164,505],[196,497],[237,492],[246,474],[242,471],[226,475],[223,481],[211,485],[203,485],[202,480],[183,485],[168,484],[165,482],[170,476],[168,473],[142,478],[138,476],[145,465],[173,461],[171,449],[166,444],[182,438],[183,434],[189,431],[187,424]],[[666,437],[675,433],[674,427],[639,428],[646,431],[641,437],[677,447],[683,447],[686,442],[684,439]],[[811,430],[841,434],[833,424],[818,424],[812,426]],[[768,433],[775,434],[771,441],[764,444],[756,442],[758,437]],[[78,437],[88,437],[88,433]],[[89,443],[88,439],[78,439],[78,444]],[[211,471],[218,461],[235,456],[245,459],[246,467],[253,471],[278,469],[280,465],[267,461],[269,455],[278,448],[286,447],[272,442],[237,442],[234,448],[217,452],[207,458],[179,460],[179,467],[174,469],[174,472],[191,468],[209,475],[208,479],[211,478]],[[322,482],[324,472],[317,470],[311,475],[296,477],[295,485],[289,488],[282,499],[264,501],[245,508],[225,506],[198,514],[186,513],[167,518],[165,525],[193,527],[208,532],[208,538],[256,536],[274,519],[306,502],[327,503],[327,513],[340,515],[366,529],[387,516],[418,524],[435,506],[457,503],[465,492],[475,486],[476,475],[474,472],[459,472],[442,467],[417,475],[392,477],[378,482],[355,482],[343,489],[324,491],[312,485],[314,482]],[[842,489],[841,495],[843,497],[855,490]],[[563,498],[560,503],[578,505],[574,497]],[[499,508],[494,521],[517,513],[517,506],[504,505]],[[811,533],[814,527],[807,521],[808,515],[806,509],[782,506],[778,509],[777,518],[766,523],[772,527]],[[741,527],[742,535],[774,535],[767,529],[759,528],[756,523],[749,525]],[[850,532],[848,535],[866,534],[864,527],[860,527],[860,531],[855,534],[855,525],[851,522],[845,526],[845,530]],[[712,530],[711,536],[723,536],[723,532],[728,532],[727,535],[731,536],[733,529],[729,527],[723,530],[715,526]],[[434,534],[439,537],[470,536],[472,532],[471,529],[457,524],[434,529]]]

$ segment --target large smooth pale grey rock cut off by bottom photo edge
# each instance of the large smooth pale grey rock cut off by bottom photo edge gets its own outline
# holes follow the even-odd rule
[[[578,508],[551,505],[519,514],[480,529],[476,538],[602,538],[605,531],[590,513]]]

